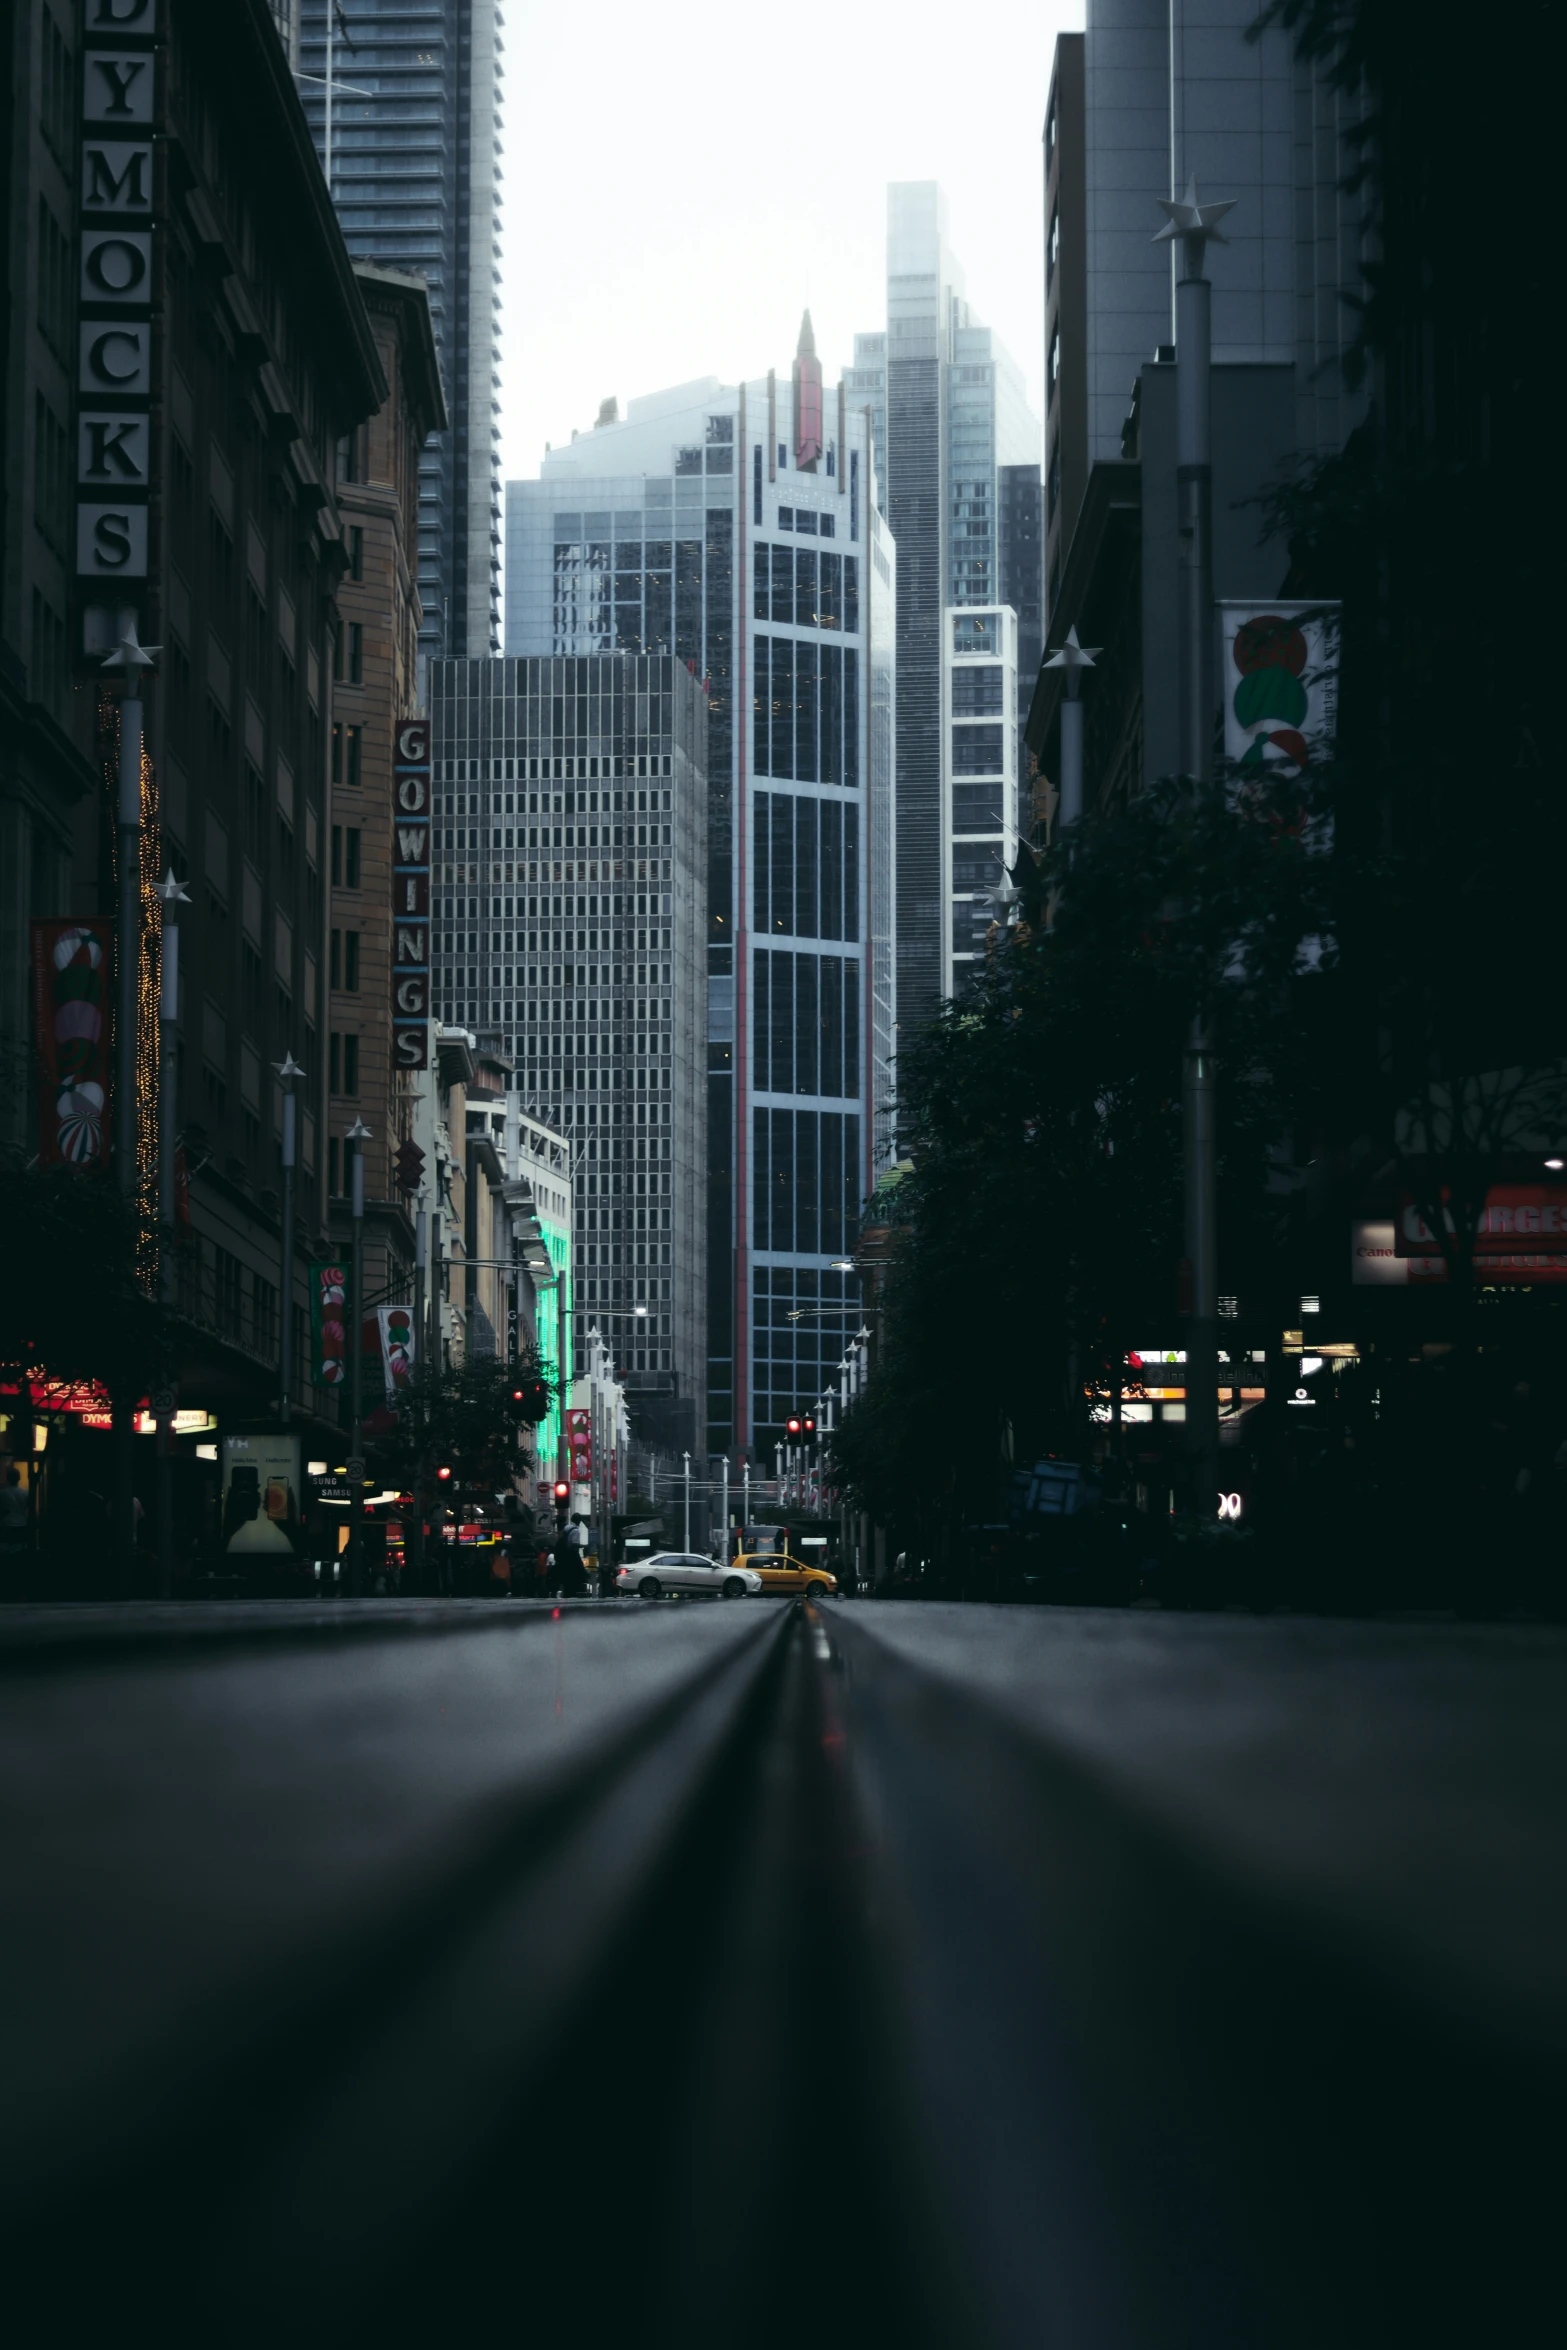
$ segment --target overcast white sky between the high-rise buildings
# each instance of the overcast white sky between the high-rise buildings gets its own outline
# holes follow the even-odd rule
[[[1043,411],[1041,132],[1081,0],[507,0],[503,470],[688,376],[827,383],[883,324],[886,183],[937,179],[968,298]]]

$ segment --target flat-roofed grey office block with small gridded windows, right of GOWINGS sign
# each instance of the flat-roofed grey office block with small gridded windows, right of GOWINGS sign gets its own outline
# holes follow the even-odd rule
[[[578,1323],[707,1424],[707,705],[670,653],[437,660],[432,996],[576,1159]],[[573,1375],[580,1375],[573,1347]]]

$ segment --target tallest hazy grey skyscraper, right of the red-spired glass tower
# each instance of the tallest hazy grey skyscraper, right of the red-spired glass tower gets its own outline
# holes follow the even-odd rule
[[[1038,465],[1022,376],[970,313],[935,181],[888,188],[886,334],[855,338],[848,400],[869,418],[897,545],[897,1025],[942,996],[942,632],[1001,597],[1001,477]],[[881,381],[876,381],[881,378]]]

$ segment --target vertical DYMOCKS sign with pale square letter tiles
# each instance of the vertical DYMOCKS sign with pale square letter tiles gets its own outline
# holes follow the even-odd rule
[[[75,569],[96,585],[148,576],[157,12],[87,0],[82,33]]]

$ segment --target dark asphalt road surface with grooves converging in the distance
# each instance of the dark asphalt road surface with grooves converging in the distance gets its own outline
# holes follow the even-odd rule
[[[1565,1701],[1513,1626],[5,1610],[7,2331],[1553,2338]]]

